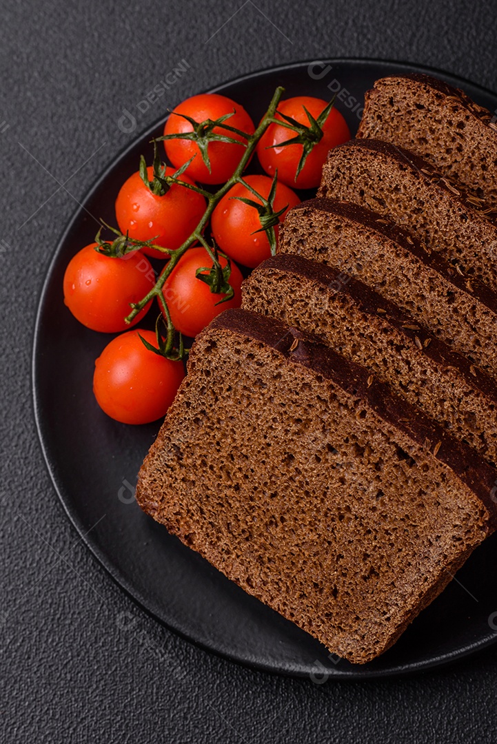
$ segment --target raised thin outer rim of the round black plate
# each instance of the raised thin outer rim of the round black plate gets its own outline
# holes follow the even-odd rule
[[[489,95],[491,97],[497,97],[497,92],[493,91],[492,89],[488,89],[484,86],[481,86],[479,83],[474,83],[472,80],[469,80],[465,77],[461,77],[457,74],[449,73],[445,70],[442,70],[440,68],[434,68],[429,65],[421,65],[417,64],[416,62],[400,62],[398,60],[389,60],[389,59],[383,59],[379,57],[331,57],[331,58],[325,58],[325,59],[310,59],[310,60],[301,60],[300,62],[289,62],[284,65],[274,65],[272,67],[264,67],[257,70],[254,70],[250,73],[246,73],[243,75],[239,75],[236,77],[231,77],[228,80],[223,81],[222,83],[217,84],[216,86],[213,86],[209,88],[208,90],[202,90],[198,93],[215,93],[221,90],[226,89],[228,86],[233,85],[234,83],[243,83],[246,80],[251,80],[253,78],[260,77],[264,74],[273,74],[283,71],[291,71],[293,69],[297,68],[303,68],[306,65],[310,65],[312,63],[317,64],[323,64],[323,65],[333,65],[333,64],[354,64],[354,65],[364,65],[367,67],[368,65],[394,65],[396,68],[400,68],[400,70],[404,70],[406,72],[424,72],[426,74],[431,74],[434,77],[441,76],[444,79],[448,80],[449,83],[455,87],[459,87],[464,85],[464,83],[467,83],[469,86],[471,86],[473,89],[478,89],[482,94]],[[86,190],[86,193],[81,197],[80,203],[78,204],[77,208],[74,209],[74,211],[71,213],[71,216],[68,218],[65,227],[62,229],[60,236],[58,237],[53,254],[51,255],[51,260],[48,262],[47,269],[45,270],[45,275],[42,280],[42,286],[39,289],[38,295],[36,297],[36,314],[35,314],[35,320],[33,324],[32,329],[32,336],[31,336],[31,380],[30,380],[30,387],[31,387],[31,404],[33,406],[33,418],[35,423],[35,429],[36,429],[36,435],[39,441],[39,446],[42,450],[42,456],[43,461],[45,463],[45,468],[48,472],[48,476],[50,478],[51,484],[54,487],[55,492],[57,493],[57,497],[59,498],[60,503],[62,504],[62,508],[65,511],[65,514],[68,516],[69,521],[71,522],[71,525],[74,527],[74,529],[77,532],[77,535],[79,536],[81,542],[83,542],[83,545],[86,546],[86,548],[89,550],[89,552],[92,554],[92,556],[97,559],[97,562],[100,564],[100,566],[106,571],[106,574],[108,574],[112,580],[119,586],[121,591],[124,591],[127,597],[129,597],[130,600],[132,600],[135,605],[138,605],[138,607],[149,617],[153,618],[155,622],[159,623],[159,625],[167,628],[170,630],[170,632],[176,633],[176,635],[179,635],[180,638],[183,638],[185,641],[188,641],[190,644],[193,644],[197,648],[202,649],[205,652],[214,654],[218,656],[219,658],[224,659],[225,661],[231,661],[232,663],[240,664],[240,666],[251,669],[251,670],[257,670],[277,676],[290,676],[293,678],[300,678],[305,679],[310,677],[310,671],[309,670],[291,670],[289,668],[275,668],[275,665],[264,663],[264,662],[258,662],[258,661],[248,661],[246,658],[240,657],[240,655],[237,655],[236,653],[228,653],[224,652],[218,648],[214,648],[212,646],[209,646],[208,644],[203,643],[202,641],[199,641],[196,638],[191,637],[188,635],[187,632],[182,631],[182,629],[179,629],[175,626],[173,626],[172,623],[167,623],[165,620],[160,618],[153,609],[151,609],[150,606],[147,606],[146,599],[142,599],[141,595],[138,597],[136,589],[134,589],[128,580],[124,576],[121,575],[120,571],[118,570],[118,566],[115,565],[114,562],[109,560],[106,553],[100,548],[99,545],[95,545],[91,542],[91,540],[88,537],[88,529],[86,525],[83,524],[82,519],[80,518],[79,513],[77,510],[72,507],[70,501],[65,499],[64,496],[64,489],[62,484],[59,482],[59,479],[57,478],[57,474],[52,469],[51,463],[52,458],[50,453],[48,452],[47,446],[45,446],[45,437],[44,437],[44,430],[43,430],[43,423],[42,418],[40,414],[40,402],[39,402],[39,394],[37,391],[36,386],[36,379],[38,376],[38,366],[39,366],[39,356],[40,352],[42,350],[39,348],[39,335],[40,335],[40,328],[42,324],[42,312],[43,308],[45,306],[45,302],[47,301],[48,297],[48,288],[51,280],[51,275],[54,272],[54,269],[57,265],[57,259],[59,257],[60,251],[62,246],[65,244],[65,240],[68,237],[68,234],[70,233],[71,229],[73,228],[73,225],[77,220],[80,218],[81,210],[84,208],[84,205],[86,205],[87,202],[89,202],[89,199],[92,198],[94,192],[100,187],[100,185],[108,178],[109,174],[112,172],[112,170],[115,167],[115,164],[118,161],[121,161],[123,158],[126,158],[126,155],[135,148],[138,140],[144,140],[144,138],[148,138],[155,129],[158,129],[158,126],[163,124],[165,119],[167,118],[167,115],[162,115],[161,117],[155,119],[152,124],[150,124],[146,129],[144,129],[143,132],[138,132],[138,134],[132,138],[131,141],[129,141],[124,147],[121,148],[121,150],[118,151],[117,154],[115,154],[112,157],[112,160],[109,161],[109,163],[106,165],[106,167],[100,171],[100,173],[97,175],[97,177],[92,182],[92,185]],[[151,604],[151,603],[150,603]],[[432,656],[429,659],[425,659],[423,661],[413,661],[408,662],[406,664],[403,664],[401,667],[392,667],[392,668],[385,668],[385,669],[379,669],[379,670],[368,670],[367,667],[362,667],[359,664],[356,664],[353,669],[351,670],[327,670],[329,671],[329,674],[327,675],[327,679],[330,679],[330,681],[333,680],[347,680],[347,681],[363,681],[363,680],[370,680],[370,679],[385,679],[385,678],[394,678],[394,677],[408,677],[408,676],[414,676],[417,675],[423,671],[426,671],[428,669],[435,669],[440,667],[447,667],[450,664],[455,664],[458,661],[460,661],[463,658],[466,658],[466,656],[474,655],[475,653],[479,651],[483,651],[487,647],[493,646],[497,642],[497,633],[493,633],[493,635],[488,635],[486,638],[482,638],[478,641],[473,641],[472,643],[466,644],[464,647],[461,647],[460,649],[452,652],[446,652],[440,655]]]

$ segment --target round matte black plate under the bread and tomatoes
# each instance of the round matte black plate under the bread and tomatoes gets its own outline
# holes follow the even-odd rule
[[[330,98],[330,92],[337,92],[337,105],[355,132],[365,90],[378,77],[404,71],[423,70],[371,60],[306,62],[251,74],[216,90],[243,103],[254,121],[276,86],[284,86],[288,96]],[[495,94],[429,72],[461,87],[490,111],[497,109]],[[118,188],[137,169],[138,156],[150,152],[147,143],[163,126],[164,119],[100,176],[83,202],[89,213],[115,223]],[[92,373],[94,359],[110,337],[86,330],[62,304],[65,266],[94,239],[95,223],[88,212],[80,208],[74,214],[45,280],[34,336],[33,395],[42,449],[62,504],[86,545],[121,587],[155,618],[208,650],[263,670],[315,675],[316,682],[327,676],[359,679],[407,673],[495,641],[497,537],[475,551],[394,648],[370,664],[353,666],[330,659],[310,635],[245,594],[141,512],[130,487],[158,424],[125,426],[100,411],[92,394]]]

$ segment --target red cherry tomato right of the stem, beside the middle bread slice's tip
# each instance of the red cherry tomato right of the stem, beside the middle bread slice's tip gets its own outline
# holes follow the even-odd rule
[[[272,185],[272,179],[269,176],[245,176],[244,180],[267,199]],[[258,232],[260,219],[257,209],[240,202],[239,199],[234,199],[234,196],[243,196],[262,204],[260,199],[257,199],[245,186],[235,185],[222,197],[214,209],[211,219],[212,234],[225,254],[243,263],[243,266],[250,266],[254,269],[271,255],[269,238],[264,231]],[[291,188],[284,184],[277,184],[273,204],[275,212],[285,206],[291,209],[299,202],[300,199]],[[280,216],[280,222],[283,221],[288,209]],[[275,225],[275,233],[278,238],[278,225]]]

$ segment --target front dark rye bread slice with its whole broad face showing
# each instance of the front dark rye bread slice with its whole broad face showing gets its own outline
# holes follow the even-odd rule
[[[364,663],[495,529],[495,475],[365,368],[226,310],[193,344],[136,496],[249,594]]]

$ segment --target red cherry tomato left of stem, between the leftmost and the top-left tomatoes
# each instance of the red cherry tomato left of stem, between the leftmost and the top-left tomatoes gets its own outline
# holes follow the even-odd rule
[[[173,176],[174,168],[167,167],[166,175]],[[153,167],[147,168],[151,180]],[[185,183],[193,184],[187,176],[180,176]],[[115,216],[123,234],[136,240],[153,240],[158,246],[175,250],[199,224],[205,211],[202,194],[173,184],[164,196],[152,193],[144,184],[138,171],[129,176],[121,186],[115,202]],[[167,254],[153,248],[142,251],[155,258],[167,259]]]

